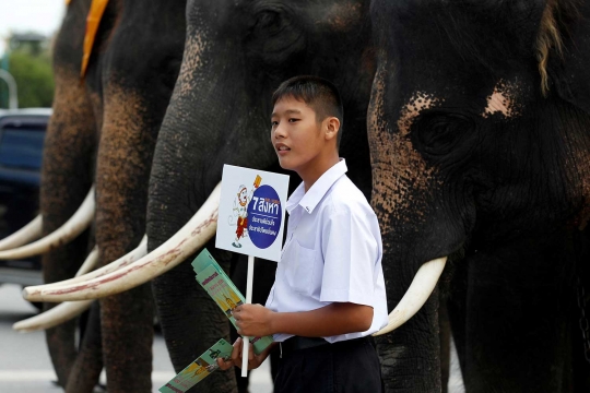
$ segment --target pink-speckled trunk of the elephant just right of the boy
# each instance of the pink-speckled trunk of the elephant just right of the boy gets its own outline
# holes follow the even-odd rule
[[[412,110],[414,103],[391,115],[391,108],[400,105],[391,98],[391,92],[397,88],[390,74],[392,67],[379,51],[367,127],[374,184],[371,204],[381,226],[388,305],[403,309],[405,293],[414,291],[412,281],[416,272],[436,267],[439,276],[442,261],[461,247],[464,234],[450,225],[457,219],[452,212],[439,206],[444,179],[412,145],[410,126],[416,116]],[[416,105],[422,105],[417,102],[420,97],[415,99]],[[439,262],[434,263],[435,260]],[[432,295],[423,293],[424,306],[414,317],[408,320],[408,315],[401,315],[401,321],[408,320],[403,325],[376,337],[386,391],[441,389],[436,279],[430,281],[429,287],[434,288]],[[398,314],[393,311],[390,320]]]

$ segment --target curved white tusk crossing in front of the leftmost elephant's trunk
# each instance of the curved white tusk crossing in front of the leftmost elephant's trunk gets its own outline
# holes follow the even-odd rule
[[[26,245],[12,250],[0,251],[0,260],[22,259],[38,255],[52,248],[66,245],[75,239],[84,229],[88,227],[94,217],[94,186],[88,191],[84,202],[74,215],[54,233],[47,235],[31,245]]]

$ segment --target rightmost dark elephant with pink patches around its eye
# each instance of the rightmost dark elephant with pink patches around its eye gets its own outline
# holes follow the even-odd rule
[[[376,340],[386,391],[441,390],[439,300],[467,392],[590,391],[590,2],[374,0],[370,17],[390,307],[448,258]]]

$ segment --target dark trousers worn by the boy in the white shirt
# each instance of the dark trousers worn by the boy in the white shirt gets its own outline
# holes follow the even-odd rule
[[[379,359],[366,338],[283,353],[279,359],[274,393],[379,392]]]

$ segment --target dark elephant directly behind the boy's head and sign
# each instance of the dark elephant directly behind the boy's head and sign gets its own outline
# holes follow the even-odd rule
[[[363,1],[188,2],[185,57],[150,178],[150,251],[201,209],[224,164],[282,171],[270,143],[271,96],[297,74],[328,78],[339,86],[345,124],[340,151],[351,179],[369,194],[365,127],[374,62],[367,16]],[[292,177],[290,184],[297,180]],[[232,257],[212,242],[208,249],[227,267]],[[225,317],[194,285],[189,263],[153,279],[152,288],[177,371],[227,335]],[[214,373],[199,391],[229,391],[232,376]]]

